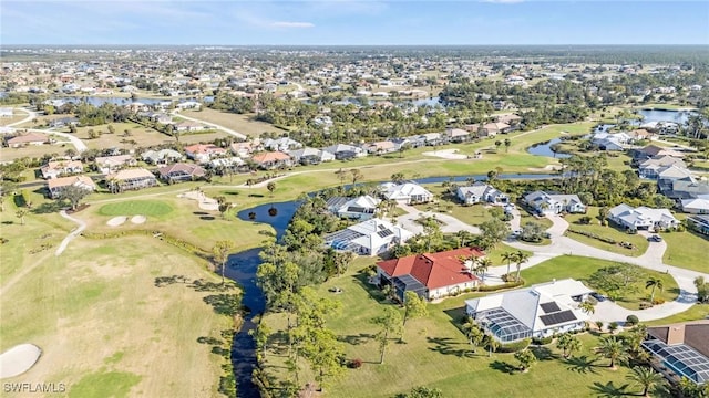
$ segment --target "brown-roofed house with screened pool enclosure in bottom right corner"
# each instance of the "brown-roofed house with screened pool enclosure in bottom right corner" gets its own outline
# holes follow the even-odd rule
[[[650,326],[640,344],[653,356],[653,366],[672,383],[686,378],[709,383],[709,321]]]

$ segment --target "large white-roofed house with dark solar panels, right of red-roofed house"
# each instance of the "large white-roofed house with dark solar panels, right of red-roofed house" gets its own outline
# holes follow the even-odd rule
[[[578,308],[593,291],[566,279],[465,301],[465,312],[501,343],[582,331],[588,315]]]

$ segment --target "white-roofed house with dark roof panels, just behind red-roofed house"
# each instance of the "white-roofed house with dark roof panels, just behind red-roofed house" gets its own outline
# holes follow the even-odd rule
[[[336,250],[351,251],[360,255],[378,255],[395,244],[404,243],[412,235],[412,232],[401,227],[373,218],[325,235],[325,243]]]

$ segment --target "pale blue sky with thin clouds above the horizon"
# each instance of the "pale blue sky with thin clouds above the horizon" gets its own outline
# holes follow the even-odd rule
[[[11,44],[709,44],[709,1],[2,0]]]

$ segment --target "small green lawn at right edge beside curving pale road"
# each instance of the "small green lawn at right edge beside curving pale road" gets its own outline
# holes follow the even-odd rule
[[[667,242],[667,251],[662,258],[665,263],[709,273],[707,239],[692,232],[662,233],[662,239]]]

